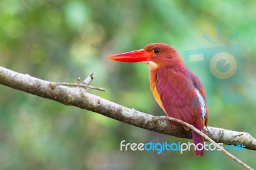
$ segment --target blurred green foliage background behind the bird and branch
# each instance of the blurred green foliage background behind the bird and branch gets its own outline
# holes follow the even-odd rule
[[[209,126],[246,131],[256,137],[255,1],[0,1],[0,65],[16,72],[56,82],[75,82],[95,73],[92,91],[127,107],[164,115],[148,86],[143,63],[108,61],[119,52],[141,49],[148,43],[184,50],[214,47],[202,34],[242,49],[243,84],[234,91],[242,105],[224,105],[214,91]],[[218,151],[204,158],[191,151],[180,155],[164,151],[120,151],[120,141],[188,143],[93,112],[0,86],[1,169],[241,169]],[[232,151],[256,167],[255,151]]]

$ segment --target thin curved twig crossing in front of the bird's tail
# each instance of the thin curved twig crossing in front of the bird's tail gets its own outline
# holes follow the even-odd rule
[[[197,128],[193,127],[193,125],[190,125],[189,123],[186,123],[182,120],[178,120],[176,118],[172,118],[172,117],[168,117],[168,116],[155,116],[154,120],[171,120],[171,121],[175,121],[177,123],[180,123],[181,125],[184,125],[188,128],[191,128],[191,130],[193,130],[194,132],[196,132],[196,134],[202,135],[207,141],[211,142],[212,144],[214,144],[214,146],[216,146],[217,148],[219,148],[227,157],[232,158],[233,160],[235,160],[238,164],[240,164],[241,166],[243,166],[246,169],[252,169],[252,167],[248,166],[247,164],[244,164],[244,162],[242,162],[241,160],[239,160],[239,158],[235,157],[234,155],[232,155],[231,153],[229,153],[228,151],[226,151],[223,146],[220,146],[219,144],[217,144],[216,142],[214,142],[210,137],[208,137],[207,135],[205,135],[203,132],[201,132],[200,130],[198,130]]]

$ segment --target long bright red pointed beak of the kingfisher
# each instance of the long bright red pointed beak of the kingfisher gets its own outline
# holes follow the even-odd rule
[[[109,56],[109,59],[113,59],[115,61],[122,61],[122,62],[140,62],[140,61],[149,61],[152,57],[152,54],[149,52],[141,49],[141,50],[134,50],[131,52],[125,52],[122,54],[116,54],[113,56]]]

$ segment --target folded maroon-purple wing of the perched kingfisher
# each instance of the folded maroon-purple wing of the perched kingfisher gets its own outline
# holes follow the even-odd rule
[[[157,72],[156,88],[164,111],[168,116],[189,124],[193,124],[195,119],[202,115],[196,89],[200,93],[204,91],[204,87],[194,76],[195,74],[191,74],[185,66],[160,68]],[[196,80],[193,81],[193,79]],[[202,92],[200,94],[202,95]],[[205,96],[203,98],[205,101]]]

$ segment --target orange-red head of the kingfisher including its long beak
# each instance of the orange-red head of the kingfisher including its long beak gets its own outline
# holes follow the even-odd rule
[[[177,51],[165,43],[150,43],[141,50],[109,56],[109,59],[122,62],[143,62],[151,66],[175,65],[183,63]]]

